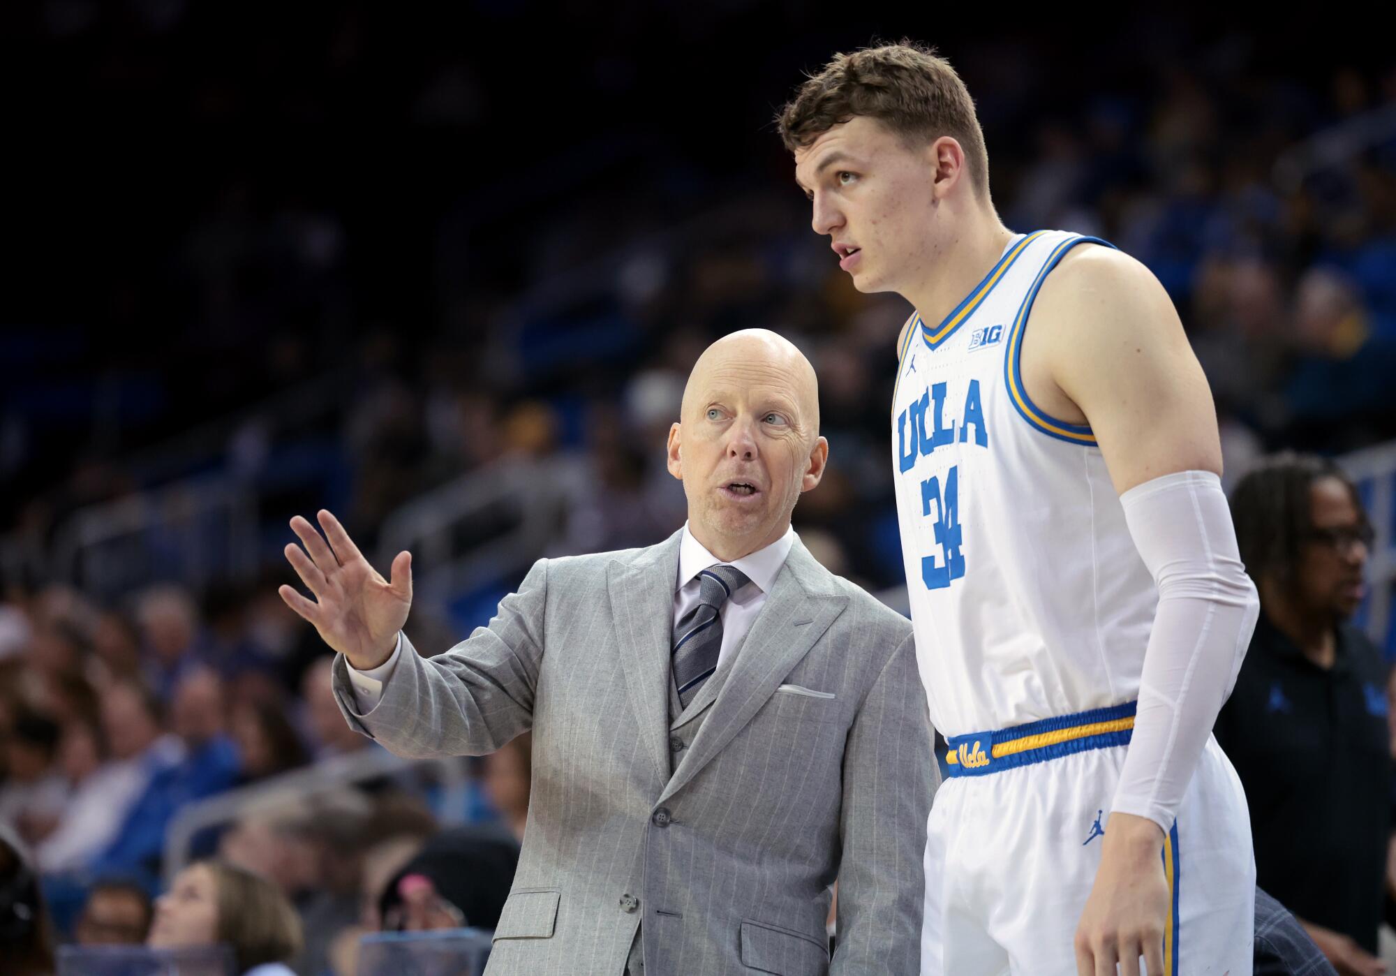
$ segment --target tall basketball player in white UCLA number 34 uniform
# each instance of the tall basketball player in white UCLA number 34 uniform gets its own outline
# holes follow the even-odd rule
[[[779,124],[854,286],[916,307],[892,464],[951,747],[921,972],[1249,973],[1245,796],[1210,730],[1258,600],[1173,304],[1104,242],[1000,222],[931,52],[839,54]]]

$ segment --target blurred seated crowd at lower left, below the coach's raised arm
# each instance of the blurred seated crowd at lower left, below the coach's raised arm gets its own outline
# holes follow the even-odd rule
[[[378,750],[339,715],[325,648],[300,628],[261,639],[289,626],[275,593],[225,613],[170,584],[128,613],[49,588],[0,617],[0,824],[31,852],[59,934],[78,945],[147,940],[187,804]],[[216,856],[271,881],[304,933],[297,972],[352,973],[363,931],[429,927],[402,905],[406,874],[417,901],[447,894],[455,924],[494,924],[528,811],[528,757],[525,736],[477,761],[458,808],[391,772],[264,790],[195,832],[179,863]]]

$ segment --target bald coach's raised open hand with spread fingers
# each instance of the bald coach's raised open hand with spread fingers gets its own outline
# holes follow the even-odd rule
[[[359,670],[377,667],[392,656],[398,631],[408,620],[412,554],[398,553],[389,571],[392,578],[384,579],[369,565],[339,519],[324,508],[315,518],[325,535],[296,515],[290,528],[304,550],[293,542],[285,550],[296,575],[315,599],[307,600],[292,586],[281,586],[276,592],[286,606],[315,626],[325,644],[349,658],[350,665]]]

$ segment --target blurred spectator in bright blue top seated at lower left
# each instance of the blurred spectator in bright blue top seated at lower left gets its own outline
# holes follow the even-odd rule
[[[183,755],[151,778],[116,839],[92,864],[95,874],[145,873],[154,878],[163,855],[165,829],[179,808],[237,781],[237,747],[223,733],[218,674],[195,667],[180,679],[170,705],[170,726]]]

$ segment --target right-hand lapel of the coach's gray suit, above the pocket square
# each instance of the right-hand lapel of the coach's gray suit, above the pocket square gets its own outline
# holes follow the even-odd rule
[[[660,803],[683,789],[747,726],[846,606],[847,598],[829,585],[829,572],[796,540]],[[698,713],[694,707],[702,705],[706,691],[704,686],[688,712]]]

